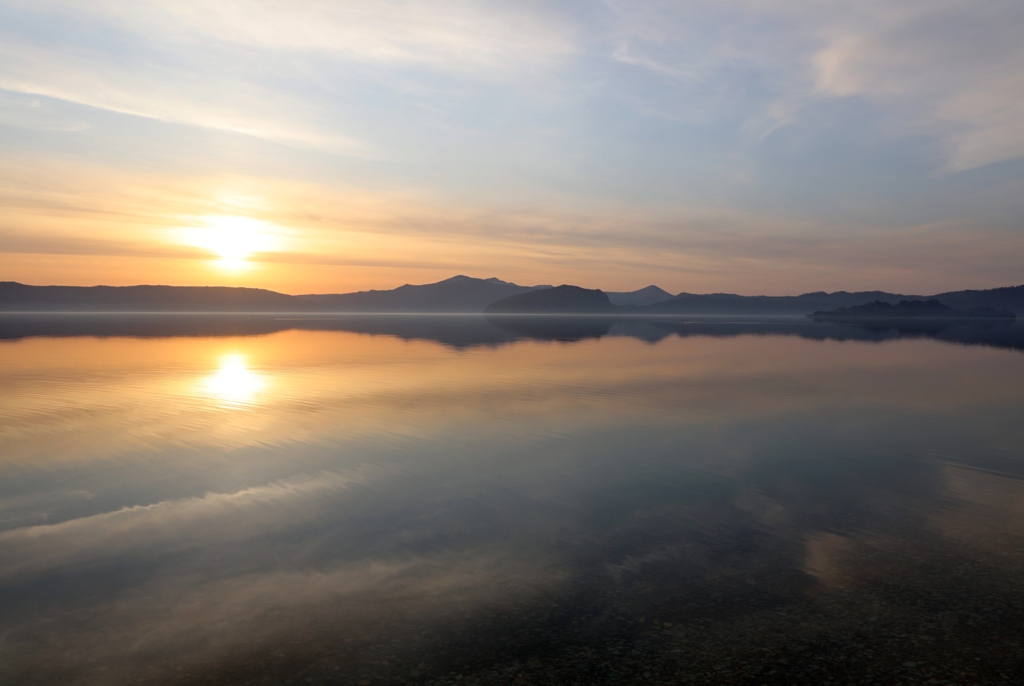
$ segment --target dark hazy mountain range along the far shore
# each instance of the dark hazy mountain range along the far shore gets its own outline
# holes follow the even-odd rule
[[[992,307],[1024,315],[1024,286],[930,296],[862,291],[798,296],[672,294],[648,286],[603,292],[575,286],[519,286],[499,278],[453,276],[390,291],[286,295],[263,289],[183,286],[27,286],[0,282],[0,311],[45,312],[483,312],[635,314],[787,314],[870,302],[934,298],[947,307]]]

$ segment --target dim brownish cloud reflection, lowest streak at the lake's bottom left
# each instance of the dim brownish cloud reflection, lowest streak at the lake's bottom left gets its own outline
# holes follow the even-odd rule
[[[229,660],[259,663],[271,651],[311,648],[323,658],[353,641],[360,652],[369,644],[388,655],[399,638],[436,642],[434,631],[444,632],[453,619],[557,593],[561,582],[544,559],[500,547],[338,562],[318,570],[234,571],[174,566],[109,602],[69,599],[62,611],[88,617],[87,629],[74,620],[54,626],[34,614],[9,618],[43,637],[20,646],[35,668],[55,657],[67,676],[76,667],[74,656],[89,655],[87,672],[69,683],[136,683],[146,672],[183,667],[216,673]],[[296,647],[306,643],[310,648]],[[97,661],[110,668],[101,682],[86,676],[95,675]]]

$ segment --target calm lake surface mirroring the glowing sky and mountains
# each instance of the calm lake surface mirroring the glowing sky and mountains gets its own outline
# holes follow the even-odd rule
[[[0,683],[1024,683],[1022,350],[0,316]]]

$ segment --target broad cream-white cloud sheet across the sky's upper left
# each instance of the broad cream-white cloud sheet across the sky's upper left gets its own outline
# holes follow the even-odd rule
[[[278,0],[13,7],[41,28],[4,36],[0,88],[349,155],[374,152],[332,116],[347,89],[365,88],[342,75],[348,63],[493,80],[543,69],[572,50],[553,16],[463,0],[376,2],[372,10]],[[83,30],[54,36],[68,20]]]

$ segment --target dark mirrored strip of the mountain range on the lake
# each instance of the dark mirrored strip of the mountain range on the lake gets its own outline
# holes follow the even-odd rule
[[[798,336],[811,340],[882,342],[930,338],[1024,350],[1020,320],[887,319],[810,321],[804,317],[646,317],[587,315],[349,314],[288,317],[260,314],[2,314],[0,340],[31,337],[260,336],[281,331],[339,331],[457,348],[518,340],[580,341],[624,336],[650,343],[670,336]]]

